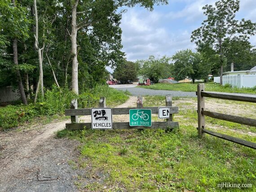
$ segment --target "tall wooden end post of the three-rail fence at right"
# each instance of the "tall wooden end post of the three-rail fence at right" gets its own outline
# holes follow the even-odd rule
[[[204,97],[201,96],[201,92],[204,91],[204,84],[199,83],[197,85],[197,114],[198,114],[198,135],[199,138],[203,138],[205,133],[202,132],[202,129],[205,128],[204,115],[202,110],[204,109]]]

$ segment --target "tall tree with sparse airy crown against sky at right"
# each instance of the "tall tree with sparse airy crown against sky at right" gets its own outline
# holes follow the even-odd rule
[[[239,0],[219,0],[213,5],[203,7],[207,19],[203,21],[202,26],[194,30],[191,35],[191,41],[197,45],[203,43],[212,47],[220,57],[220,76],[222,85],[222,72],[225,63],[225,42],[234,38],[246,40],[250,35],[255,34],[256,23],[251,20],[235,19],[235,14],[239,10]]]

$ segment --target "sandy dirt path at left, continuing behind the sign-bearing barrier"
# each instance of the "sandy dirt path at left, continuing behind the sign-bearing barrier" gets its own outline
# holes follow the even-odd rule
[[[136,97],[131,96],[118,107],[135,105]],[[90,122],[90,117],[79,120]],[[55,138],[67,122],[0,132],[0,192],[77,191],[74,182],[84,170],[72,169],[69,162],[76,161],[79,142]]]

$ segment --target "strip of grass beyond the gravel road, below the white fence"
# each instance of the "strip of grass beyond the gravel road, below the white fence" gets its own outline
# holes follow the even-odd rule
[[[201,82],[202,83],[202,82]],[[154,90],[170,90],[170,91],[183,91],[183,92],[196,92],[198,83],[156,83],[150,86],[143,86],[143,88]],[[209,92],[230,92],[230,93],[253,93],[256,94],[256,87],[253,88],[237,88],[230,87],[229,85],[221,86],[217,83],[205,83],[205,90]]]

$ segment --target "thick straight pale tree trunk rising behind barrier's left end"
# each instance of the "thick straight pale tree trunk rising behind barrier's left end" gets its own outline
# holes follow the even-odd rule
[[[71,54],[72,54],[72,91],[78,95],[78,61],[77,61],[77,44],[76,37],[78,27],[76,24],[76,8],[79,0],[75,0],[72,6],[72,21],[71,21]]]

